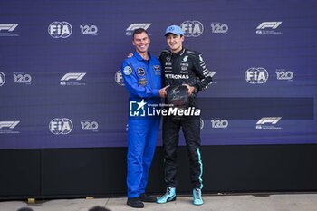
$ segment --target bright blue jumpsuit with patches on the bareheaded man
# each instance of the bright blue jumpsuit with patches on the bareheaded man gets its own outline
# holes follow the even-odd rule
[[[159,117],[143,117],[147,103],[158,104],[161,88],[159,60],[149,53],[149,61],[136,51],[122,63],[122,77],[130,93],[128,122],[128,198],[145,193],[149,168],[159,134]]]

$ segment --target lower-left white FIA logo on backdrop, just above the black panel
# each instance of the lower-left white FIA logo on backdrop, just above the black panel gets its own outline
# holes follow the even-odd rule
[[[72,121],[67,118],[55,118],[50,121],[49,129],[54,135],[66,135],[72,132]]]

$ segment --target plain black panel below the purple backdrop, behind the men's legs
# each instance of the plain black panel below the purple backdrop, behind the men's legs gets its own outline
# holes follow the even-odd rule
[[[0,197],[126,195],[126,148],[0,150]],[[316,145],[204,146],[204,193],[317,190]],[[162,193],[159,147],[148,191]],[[42,177],[41,177],[42,176]],[[187,149],[178,149],[178,193],[189,194]]]

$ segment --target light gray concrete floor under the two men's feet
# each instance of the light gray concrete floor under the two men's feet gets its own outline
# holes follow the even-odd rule
[[[34,211],[88,211],[92,206],[104,206],[111,211],[152,210],[152,211],[316,211],[317,193],[313,194],[274,194],[262,197],[253,195],[203,196],[204,205],[192,205],[192,197],[178,197],[164,205],[145,203],[143,209],[126,205],[127,198],[59,199],[36,201],[2,201],[0,211],[16,211],[21,207],[31,207]]]

